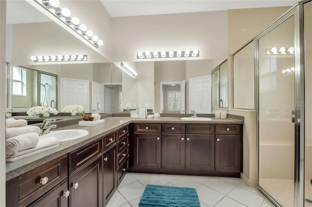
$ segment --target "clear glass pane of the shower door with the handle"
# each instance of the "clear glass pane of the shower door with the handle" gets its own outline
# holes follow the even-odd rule
[[[259,186],[294,206],[294,17],[258,40]]]

